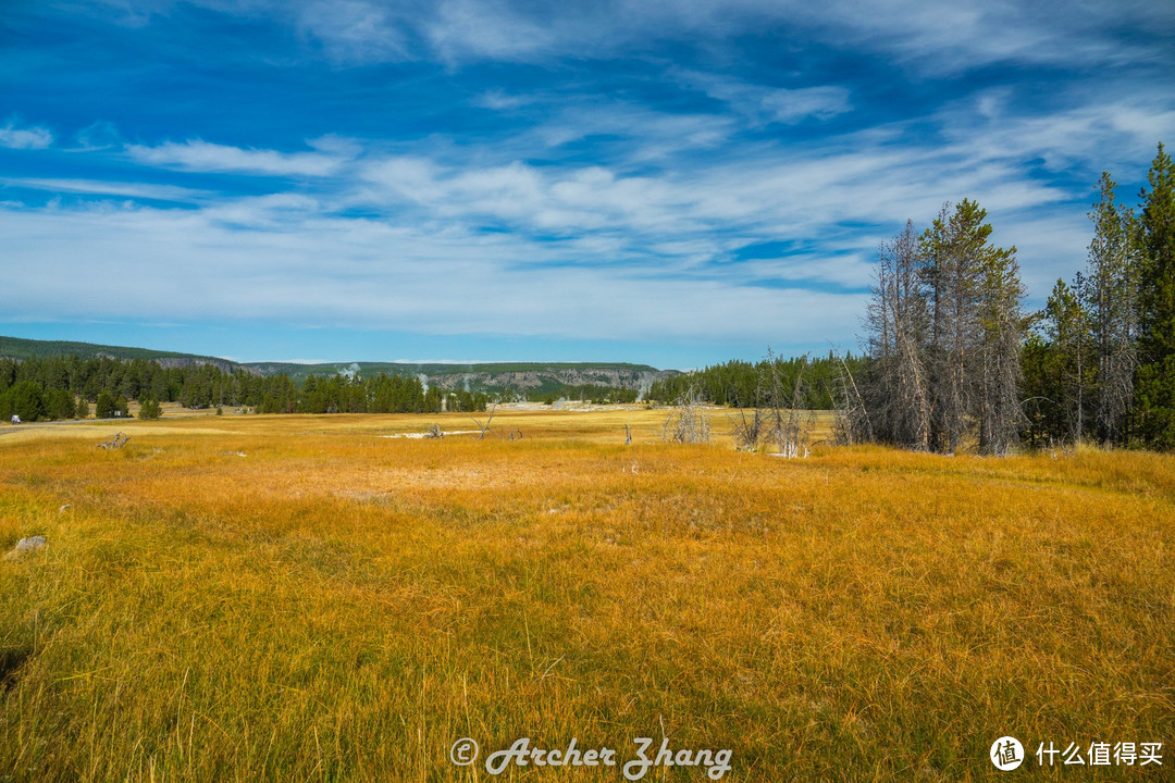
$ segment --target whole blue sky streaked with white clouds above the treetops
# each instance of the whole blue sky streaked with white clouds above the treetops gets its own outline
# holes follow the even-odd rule
[[[969,197],[1039,304],[1175,143],[1175,4],[9,0],[0,333],[240,360],[855,349]]]

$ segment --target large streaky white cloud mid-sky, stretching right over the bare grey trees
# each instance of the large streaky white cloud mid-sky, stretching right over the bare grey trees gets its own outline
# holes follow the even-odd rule
[[[861,224],[888,231],[907,217],[928,220],[946,200],[971,196],[989,209],[1010,211],[1070,198],[1026,177],[1015,158],[974,158],[962,140],[926,153],[878,144],[875,135],[758,147],[642,175],[623,175],[605,166],[374,158],[356,168],[364,184],[340,197],[395,212],[398,220],[412,215],[436,224],[606,241],[612,257],[645,261],[676,256],[713,261],[738,244],[779,238],[827,242],[846,234],[864,235],[861,242],[872,248],[881,237],[871,236]],[[741,242],[732,244],[730,237]],[[542,257],[542,248],[528,255]],[[820,275],[813,272],[813,278]],[[835,282],[848,284],[841,272]]]

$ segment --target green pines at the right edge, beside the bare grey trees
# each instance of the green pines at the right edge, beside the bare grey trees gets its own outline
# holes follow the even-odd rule
[[[1103,173],[1086,268],[1058,279],[1025,345],[1029,441],[1175,448],[1175,167],[1162,144],[1139,209]]]

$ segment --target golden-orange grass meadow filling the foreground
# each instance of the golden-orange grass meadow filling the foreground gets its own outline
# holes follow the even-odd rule
[[[663,736],[724,781],[1175,779],[1175,458],[784,460],[665,414],[6,431],[0,548],[48,546],[0,561],[0,782],[623,781],[481,762]]]

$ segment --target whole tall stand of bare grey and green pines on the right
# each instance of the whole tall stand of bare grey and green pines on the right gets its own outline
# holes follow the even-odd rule
[[[944,205],[878,251],[868,362],[848,430],[921,451],[1097,441],[1175,448],[1175,168],[1159,146],[1137,212],[1109,174],[1085,270],[1023,310],[1016,249],[987,212]]]

